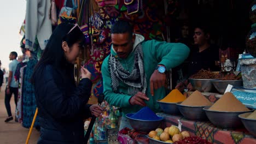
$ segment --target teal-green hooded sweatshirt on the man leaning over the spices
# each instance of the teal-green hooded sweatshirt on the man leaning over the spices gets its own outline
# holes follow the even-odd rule
[[[155,89],[154,95],[152,96],[150,94],[150,77],[158,64],[165,65],[167,70],[182,64],[189,55],[189,48],[181,43],[167,43],[165,41],[160,42],[156,40],[144,41],[142,35],[136,34],[133,50],[139,43],[142,44],[144,71],[147,75],[146,95],[149,98],[149,101],[145,100],[145,103],[154,112],[159,112],[161,109],[156,101],[166,96],[165,88],[161,87]],[[131,72],[135,57],[134,51],[132,51],[125,59],[119,58],[113,47],[110,52],[118,58],[124,69]],[[129,99],[133,95],[127,94],[128,86],[124,82],[120,81],[117,93],[113,91],[108,59],[109,56],[104,59],[101,68],[105,100],[109,105],[121,107],[123,116],[127,113],[135,113],[139,111],[142,106],[131,105],[129,103]]]

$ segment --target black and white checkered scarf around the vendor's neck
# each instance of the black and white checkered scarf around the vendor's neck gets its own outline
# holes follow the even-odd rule
[[[137,92],[146,93],[147,81],[144,73],[142,45],[135,47],[135,58],[131,73],[125,70],[123,65],[112,54],[109,55],[109,68],[112,79],[112,88],[117,92],[119,82],[122,81],[128,85],[128,94],[134,95]]]

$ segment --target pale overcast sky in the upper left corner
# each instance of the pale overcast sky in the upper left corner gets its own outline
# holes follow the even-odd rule
[[[20,50],[22,35],[19,34],[19,31],[25,20],[26,0],[1,1],[0,14],[1,69],[8,69],[10,52],[16,51],[18,55],[22,55]]]

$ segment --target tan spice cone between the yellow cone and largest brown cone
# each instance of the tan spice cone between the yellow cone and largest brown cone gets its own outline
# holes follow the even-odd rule
[[[211,101],[208,100],[201,92],[193,92],[186,100],[184,100],[181,105],[188,106],[210,106],[212,105]]]

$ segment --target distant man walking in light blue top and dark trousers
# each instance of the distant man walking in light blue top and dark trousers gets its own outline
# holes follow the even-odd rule
[[[17,67],[17,64],[19,63],[17,61],[18,54],[17,52],[13,51],[10,53],[9,58],[10,58],[10,64],[9,64],[9,77],[8,77],[8,84],[5,89],[5,98],[4,98],[4,104],[7,110],[8,117],[5,119],[4,122],[9,122],[13,120],[13,116],[11,115],[11,108],[10,108],[10,99],[11,95],[14,94],[14,100],[15,100],[15,105],[17,106],[17,101],[18,101],[18,82],[15,81],[14,79],[14,73]]]

